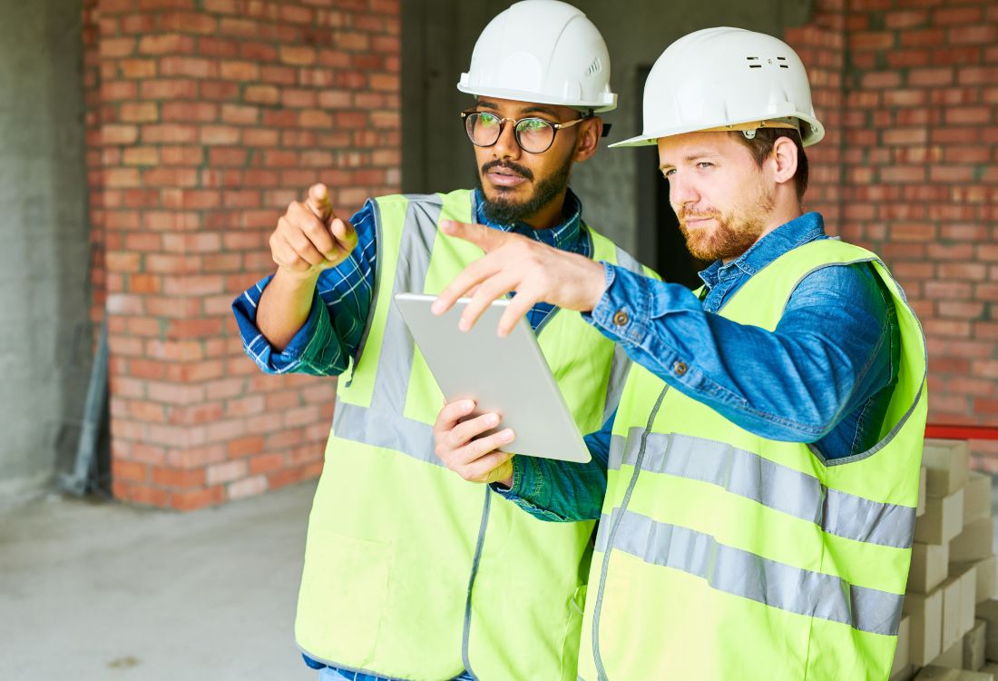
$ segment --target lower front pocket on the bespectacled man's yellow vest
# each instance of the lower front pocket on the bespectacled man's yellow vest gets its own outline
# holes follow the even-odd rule
[[[383,619],[391,559],[389,543],[309,531],[298,596],[298,644],[322,659],[364,668]]]

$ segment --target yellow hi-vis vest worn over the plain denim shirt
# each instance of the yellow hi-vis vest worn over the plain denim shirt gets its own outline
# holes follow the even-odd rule
[[[614,423],[580,679],[887,678],[925,428],[918,320],[876,256],[835,240],[782,255],[720,314],[772,331],[807,274],[862,262],[890,291],[901,339],[867,451],[823,460],[807,444],[753,435],[633,367]]]

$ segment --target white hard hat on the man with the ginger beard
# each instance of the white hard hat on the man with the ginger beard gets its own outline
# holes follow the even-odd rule
[[[824,137],[803,63],[789,45],[764,33],[706,28],[666,48],[645,83],[644,132],[610,146],[759,128],[797,129],[805,147]]]

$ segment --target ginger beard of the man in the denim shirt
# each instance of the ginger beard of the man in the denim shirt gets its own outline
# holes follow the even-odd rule
[[[740,210],[728,213],[708,209],[706,211],[687,210],[686,207],[676,212],[680,222],[680,231],[686,238],[687,248],[695,258],[714,262],[731,261],[746,253],[758,241],[765,230],[766,219],[775,205],[775,197],[771,191],[759,183],[756,185],[755,196],[746,202]],[[713,218],[717,227],[691,228],[688,220]]]

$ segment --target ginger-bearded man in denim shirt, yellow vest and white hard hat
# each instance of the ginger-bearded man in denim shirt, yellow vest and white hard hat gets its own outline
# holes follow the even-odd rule
[[[579,678],[866,679],[890,673],[918,499],[925,341],[876,255],[805,213],[804,147],[824,129],[788,45],[737,28],[673,43],[645,88],[690,251],[691,292],[479,225],[441,294],[477,288],[461,326],[516,291],[499,332],[547,301],[635,360],[593,470],[483,450],[454,402],[437,450],[526,511],[601,518]],[[480,416],[479,418],[482,418]],[[494,482],[498,480],[498,482]],[[593,593],[595,591],[595,593]]]

